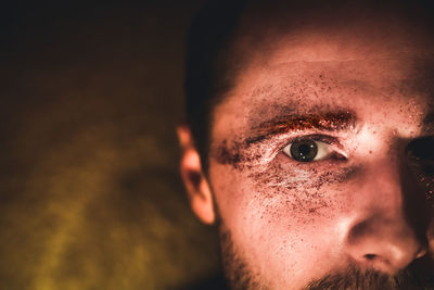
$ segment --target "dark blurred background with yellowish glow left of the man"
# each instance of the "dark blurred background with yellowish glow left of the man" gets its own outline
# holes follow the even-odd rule
[[[175,135],[203,2],[1,4],[0,289],[168,289],[219,270]]]

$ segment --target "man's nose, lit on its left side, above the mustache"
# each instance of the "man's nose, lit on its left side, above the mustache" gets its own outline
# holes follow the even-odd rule
[[[398,175],[390,166],[381,167],[367,173],[369,179],[359,188],[360,207],[348,227],[346,247],[362,268],[394,275],[423,256],[426,247],[407,218]]]

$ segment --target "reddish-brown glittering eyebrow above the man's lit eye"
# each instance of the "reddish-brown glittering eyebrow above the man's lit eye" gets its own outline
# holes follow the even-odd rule
[[[246,143],[253,144],[271,136],[290,131],[309,129],[322,131],[352,130],[356,127],[356,123],[357,116],[350,111],[277,116],[252,127],[252,137],[246,140]]]

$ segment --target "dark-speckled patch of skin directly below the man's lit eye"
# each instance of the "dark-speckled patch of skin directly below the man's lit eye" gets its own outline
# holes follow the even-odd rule
[[[346,202],[345,191],[352,190],[348,179],[356,171],[333,161],[289,162],[284,153],[279,153],[266,168],[251,171],[254,196],[250,198],[268,204],[268,212],[302,219],[331,217]]]

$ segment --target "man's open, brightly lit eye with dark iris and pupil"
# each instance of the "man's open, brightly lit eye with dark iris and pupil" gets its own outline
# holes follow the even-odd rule
[[[311,139],[299,139],[283,148],[283,152],[295,161],[312,162],[326,159],[334,151],[328,143]]]

